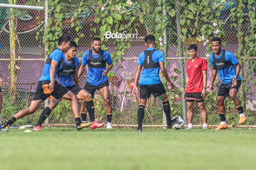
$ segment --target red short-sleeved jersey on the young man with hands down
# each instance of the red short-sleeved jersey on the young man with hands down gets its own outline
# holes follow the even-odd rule
[[[203,70],[207,70],[207,62],[204,58],[197,57],[192,62],[192,58],[187,62],[188,83],[185,92],[202,92],[203,90]]]

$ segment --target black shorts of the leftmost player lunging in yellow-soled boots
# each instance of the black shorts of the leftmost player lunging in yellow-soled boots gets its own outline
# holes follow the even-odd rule
[[[44,94],[44,88],[42,86],[44,84],[49,84],[49,83],[50,83],[50,80],[39,81],[37,84],[37,90],[35,91],[35,95],[32,100],[42,99],[44,101],[50,95],[52,95],[56,99],[59,99],[69,91],[66,87],[61,86],[57,81],[54,81],[54,88],[51,94]]]

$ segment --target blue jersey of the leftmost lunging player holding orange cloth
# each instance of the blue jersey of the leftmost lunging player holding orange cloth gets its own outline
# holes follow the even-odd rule
[[[58,49],[60,49],[58,47]],[[54,50],[52,53],[50,53],[50,59],[57,61],[57,63],[60,63],[61,59],[63,58],[63,53],[61,50]],[[50,80],[50,64],[45,63],[43,73],[39,81],[44,81],[44,80]],[[54,73],[54,81],[57,81],[57,72],[58,72],[58,67],[55,68],[55,73]]]

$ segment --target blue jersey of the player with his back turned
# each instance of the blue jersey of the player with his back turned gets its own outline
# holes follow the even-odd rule
[[[147,48],[147,50],[154,50],[154,48]],[[144,51],[140,53],[137,64],[143,65],[145,60]],[[165,62],[165,54],[161,50],[156,50],[152,55],[152,60],[155,63]],[[161,83],[159,77],[160,67],[158,68],[143,68],[142,74],[140,76],[139,84],[158,84]]]

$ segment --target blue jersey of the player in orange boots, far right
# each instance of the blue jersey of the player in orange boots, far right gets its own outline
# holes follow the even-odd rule
[[[219,58],[221,58],[222,53],[223,53],[223,49],[222,49],[221,55],[219,57],[217,57],[216,54],[214,55],[214,57],[219,59]],[[219,73],[219,77],[222,80],[222,83],[229,84],[230,82],[233,81],[233,78],[236,76],[236,64],[238,63],[238,60],[234,56],[233,53],[231,53],[227,50],[225,52],[225,59],[226,59],[226,61],[230,61],[234,65],[231,65],[230,67],[223,68],[223,69],[217,69],[217,70]],[[210,63],[212,66],[215,66],[215,64],[213,62],[212,54],[210,55]],[[237,80],[241,80],[240,74],[238,75]]]

